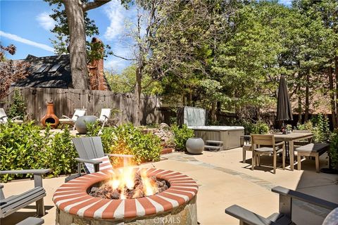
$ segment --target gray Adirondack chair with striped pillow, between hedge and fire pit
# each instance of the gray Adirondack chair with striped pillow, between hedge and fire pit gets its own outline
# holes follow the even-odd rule
[[[101,137],[89,136],[73,139],[73,143],[80,158],[77,160],[77,174],[70,175],[65,179],[65,182],[82,176],[81,167],[84,163],[84,171],[89,174],[92,172],[99,172],[102,169],[113,169],[109,157],[123,158],[123,166],[127,165],[128,158],[133,158],[134,155],[120,155],[120,154],[106,154],[102,146]]]

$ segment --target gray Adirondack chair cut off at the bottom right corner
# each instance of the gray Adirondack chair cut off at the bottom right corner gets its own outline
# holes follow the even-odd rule
[[[261,217],[260,215],[240,207],[239,205],[232,205],[225,209],[226,214],[239,219],[241,225],[268,225],[268,224],[292,224],[292,201],[300,200],[305,203],[317,205],[328,210],[334,210],[338,204],[331,203],[327,200],[315,198],[311,195],[306,195],[298,191],[292,191],[281,186],[273,188],[271,191],[280,195],[280,212],[270,215],[270,217]],[[337,210],[337,209],[336,209]],[[336,211],[334,210],[334,211]],[[330,214],[327,216],[330,217]],[[327,218],[325,219],[325,221]],[[325,223],[323,223],[325,224]],[[330,224],[330,223],[328,223]]]

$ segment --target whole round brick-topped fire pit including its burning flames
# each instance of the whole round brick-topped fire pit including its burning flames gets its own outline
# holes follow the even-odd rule
[[[56,224],[197,224],[198,186],[192,178],[163,169],[133,168],[127,173],[134,176],[134,184],[121,176],[123,169],[63,184],[53,197]]]

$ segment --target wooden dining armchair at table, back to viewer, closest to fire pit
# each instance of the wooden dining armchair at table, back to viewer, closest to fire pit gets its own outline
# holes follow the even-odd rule
[[[256,166],[256,157],[260,155],[273,155],[273,173],[276,173],[277,154],[282,153],[283,169],[285,169],[285,146],[284,142],[275,143],[273,134],[251,134],[252,144],[252,167]],[[261,147],[264,146],[264,147]],[[268,146],[268,147],[267,147]],[[261,165],[261,160],[258,160],[258,165]]]

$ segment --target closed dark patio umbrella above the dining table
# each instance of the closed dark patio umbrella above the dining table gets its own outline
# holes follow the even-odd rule
[[[289,92],[284,75],[280,76],[280,86],[278,87],[277,120],[283,121],[283,126],[284,121],[293,120]]]

